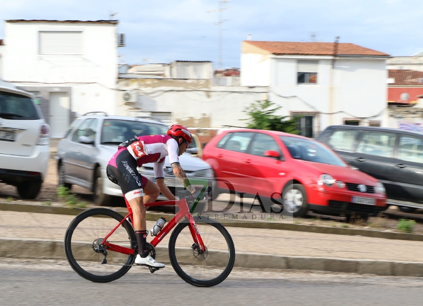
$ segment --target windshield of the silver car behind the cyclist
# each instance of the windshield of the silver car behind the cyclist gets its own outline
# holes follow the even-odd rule
[[[163,124],[119,120],[104,119],[101,129],[101,144],[120,144],[135,136],[144,135],[166,135],[168,127]]]

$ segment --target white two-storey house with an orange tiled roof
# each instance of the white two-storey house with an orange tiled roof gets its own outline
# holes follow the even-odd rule
[[[241,85],[269,86],[302,135],[331,124],[387,124],[388,54],[352,43],[243,41]]]

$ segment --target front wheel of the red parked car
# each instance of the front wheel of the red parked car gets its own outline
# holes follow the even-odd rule
[[[283,210],[294,217],[304,217],[308,211],[305,188],[301,184],[287,185],[282,193]]]

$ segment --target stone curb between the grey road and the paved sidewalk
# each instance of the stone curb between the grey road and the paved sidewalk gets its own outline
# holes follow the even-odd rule
[[[156,247],[157,257],[170,264],[167,247]],[[0,257],[63,260],[63,241],[46,239],[0,238]],[[163,257],[163,259],[162,259]],[[249,269],[317,270],[338,273],[376,274],[383,276],[423,276],[423,263],[352,260],[300,256],[277,256],[236,252],[235,267]]]

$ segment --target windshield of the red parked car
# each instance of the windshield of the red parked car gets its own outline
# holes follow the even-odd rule
[[[325,145],[298,137],[279,136],[291,156],[309,162],[348,167],[347,164]]]

